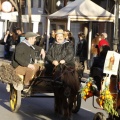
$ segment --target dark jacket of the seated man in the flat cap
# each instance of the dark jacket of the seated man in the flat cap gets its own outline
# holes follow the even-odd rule
[[[20,66],[27,67],[28,64],[33,64],[35,62],[35,52],[41,51],[41,47],[30,46],[24,42],[19,43],[13,54],[12,66],[14,68]]]

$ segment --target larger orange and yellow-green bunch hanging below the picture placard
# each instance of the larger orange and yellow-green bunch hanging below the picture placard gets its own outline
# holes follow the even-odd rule
[[[111,115],[118,116],[118,112],[114,109],[115,101],[108,86],[105,86],[105,89],[101,91],[100,96],[97,98],[97,103]]]

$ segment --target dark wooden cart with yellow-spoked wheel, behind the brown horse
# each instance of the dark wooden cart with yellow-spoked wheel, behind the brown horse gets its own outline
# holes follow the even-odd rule
[[[16,90],[13,84],[10,86],[10,108],[12,112],[17,112],[21,106],[21,100],[26,97],[54,97],[41,96],[41,93],[54,93],[55,87],[62,87],[63,83],[55,81],[51,76],[39,76],[33,80],[27,92]],[[73,113],[77,113],[81,106],[81,95],[78,92],[73,103]]]

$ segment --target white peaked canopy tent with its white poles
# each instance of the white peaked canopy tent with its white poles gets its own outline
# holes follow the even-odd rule
[[[92,21],[114,22],[114,15],[91,0],[76,0],[59,11],[49,15],[47,28],[47,49],[49,45],[50,19],[67,19],[67,29],[70,30],[71,21],[90,21],[88,59],[90,59]]]

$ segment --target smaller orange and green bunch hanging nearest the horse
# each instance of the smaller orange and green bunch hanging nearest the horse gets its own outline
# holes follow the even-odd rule
[[[89,97],[93,96],[95,87],[93,87],[93,78],[89,77],[86,85],[81,89],[81,97],[86,100]]]

